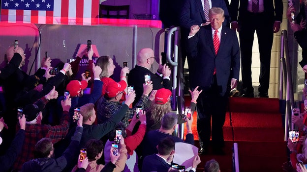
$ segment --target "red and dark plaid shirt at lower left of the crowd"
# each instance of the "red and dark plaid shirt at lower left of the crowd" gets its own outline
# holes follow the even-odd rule
[[[67,111],[63,111],[60,125],[26,124],[25,142],[13,169],[20,171],[25,162],[33,159],[34,146],[40,139],[44,137],[50,138],[52,144],[55,144],[66,136],[68,127],[69,116]]]

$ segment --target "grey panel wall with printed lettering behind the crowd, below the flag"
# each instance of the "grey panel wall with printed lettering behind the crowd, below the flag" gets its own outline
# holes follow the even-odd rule
[[[40,59],[45,56],[45,51],[48,51],[48,56],[52,57],[52,66],[61,60],[62,62],[69,62],[77,53],[79,44],[87,44],[87,40],[92,40],[92,44],[96,46],[99,55],[109,55],[113,57],[116,65],[115,79],[119,79],[120,70],[123,62],[128,62],[128,67],[131,69],[133,56],[142,48],[152,48],[155,55],[163,50],[160,46],[163,44],[164,34],[161,35],[159,28],[146,27],[118,27],[118,26],[81,26],[81,25],[36,25],[41,33],[40,49],[38,51],[38,58],[36,60],[35,69],[40,65]],[[16,25],[18,27],[18,25]],[[136,36],[134,36],[134,29]],[[38,32],[37,32],[38,33]],[[8,46],[13,45],[15,39],[20,40],[20,47],[26,48],[26,45],[31,45],[30,59],[34,59],[34,54],[39,45],[39,36],[18,36],[14,35],[0,35],[0,61],[4,59],[4,54]],[[133,44],[133,39],[136,38],[136,44]],[[34,41],[33,41],[34,40]],[[5,44],[7,43],[7,45]],[[133,54],[133,49],[136,46],[136,52]],[[155,47],[161,47],[155,49]],[[3,58],[3,59],[2,59]],[[86,60],[83,60],[86,62]],[[83,63],[82,62],[82,63]],[[81,64],[82,65],[82,64]],[[28,64],[30,68],[31,64]],[[157,64],[154,65],[153,71],[157,69]],[[81,69],[80,69],[81,70]],[[28,70],[29,72],[29,70]]]

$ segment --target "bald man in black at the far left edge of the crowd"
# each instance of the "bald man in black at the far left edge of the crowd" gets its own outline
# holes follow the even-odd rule
[[[19,64],[15,61],[16,57],[19,59]],[[6,150],[6,147],[9,146],[10,141],[13,139],[12,136],[15,135],[15,126],[17,122],[17,103],[15,99],[19,98],[24,93],[25,87],[30,85],[30,82],[28,82],[30,80],[30,76],[21,69],[21,67],[26,64],[25,59],[25,51],[21,47],[16,46],[16,48],[14,48],[14,46],[12,46],[6,51],[6,62],[8,64],[5,68],[10,68],[13,71],[9,72],[9,75],[4,76],[4,79],[2,80],[5,99],[3,119],[5,120],[5,123],[9,129],[2,132],[6,142],[3,142],[3,146],[1,145],[0,153],[2,150]],[[44,58],[41,63],[42,67],[44,68],[38,69],[34,75],[38,78],[42,78],[46,72],[46,68],[50,67],[50,61],[50,58]],[[12,67],[14,69],[9,67],[12,66],[13,63],[15,63],[15,65]]]

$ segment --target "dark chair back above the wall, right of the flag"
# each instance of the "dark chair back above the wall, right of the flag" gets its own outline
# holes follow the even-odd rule
[[[129,5],[99,5],[99,18],[129,19]]]

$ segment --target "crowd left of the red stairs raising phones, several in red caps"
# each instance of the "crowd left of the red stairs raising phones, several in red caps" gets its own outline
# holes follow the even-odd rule
[[[163,161],[166,157],[162,166],[168,171],[175,142],[194,145],[193,116],[185,118],[171,109],[170,68],[159,64],[156,74],[149,70],[155,61],[153,49],[141,49],[137,67],[131,72],[123,67],[119,82],[110,78],[112,59],[101,56],[93,64],[92,55],[90,48],[70,64],[58,64],[57,74],[50,72],[52,59],[43,58],[35,74],[28,75],[21,70],[24,50],[19,46],[7,50],[7,65],[0,70],[1,172],[153,171],[140,163],[147,164],[145,157],[153,154]],[[89,58],[90,77],[74,75],[82,58]],[[144,74],[151,74],[147,84]],[[133,91],[127,91],[127,82],[134,85]],[[84,89],[90,85],[91,93],[85,96]],[[198,87],[190,91],[192,111],[201,93]],[[185,141],[172,136],[177,123],[186,123]],[[159,144],[171,144],[167,147],[171,153],[159,154]],[[195,155],[193,172],[199,163]],[[153,163],[152,168],[156,167]]]

